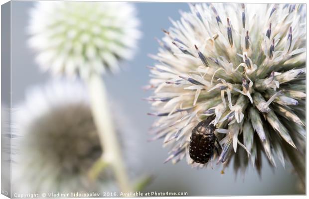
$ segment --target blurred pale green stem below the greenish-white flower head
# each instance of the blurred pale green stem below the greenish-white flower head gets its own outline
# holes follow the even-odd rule
[[[102,160],[112,167],[120,190],[123,192],[130,192],[132,188],[129,183],[125,163],[113,126],[113,117],[109,110],[104,82],[99,74],[92,74],[87,80],[87,83],[91,110],[103,147]]]

